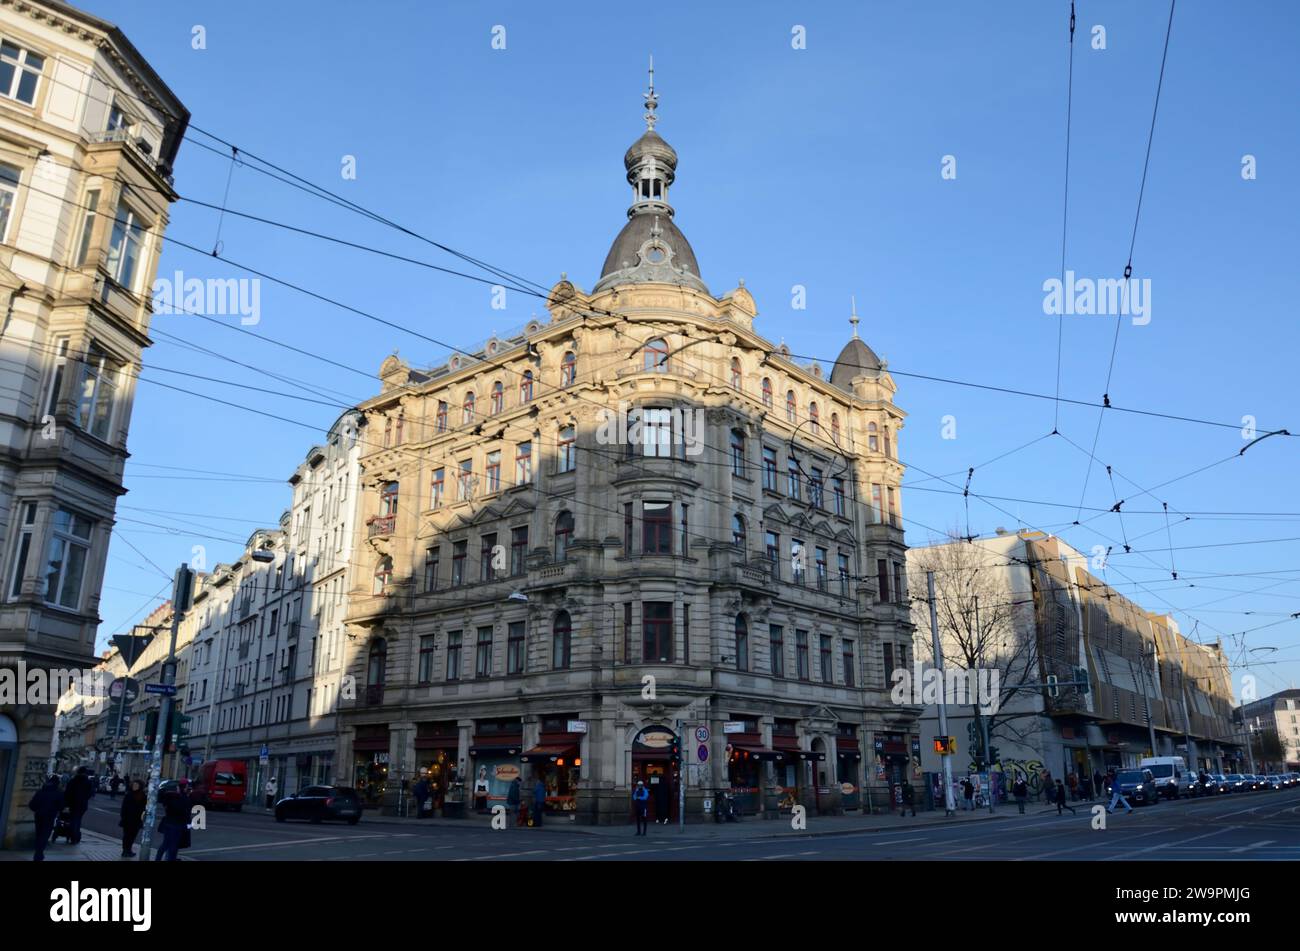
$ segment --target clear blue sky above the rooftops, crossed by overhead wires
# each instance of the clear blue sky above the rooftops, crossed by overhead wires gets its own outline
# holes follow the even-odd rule
[[[1046,437],[1053,401],[901,375],[1056,388],[1057,323],[1043,312],[1043,283],[1061,265],[1065,0],[814,10],[593,3],[566,4],[563,16],[529,3],[198,6],[98,0],[91,10],[124,29],[195,126],[545,286],[567,272],[590,288],[599,275],[624,221],[621,157],[644,129],[653,53],[658,130],[680,156],[676,221],[710,288],[720,295],[744,278],[760,333],[827,368],[848,339],[855,295],[863,338],[900,373],[897,403],[910,414],[901,455],[911,466],[907,483],[919,483],[904,491],[911,543],[930,540],[919,526],[965,530],[959,490],[966,469],[978,466],[974,492],[1023,501],[997,501],[998,511],[972,499],[972,531],[1019,520],[1061,530],[1083,551],[1153,533],[1132,543],[1135,553],[1113,555],[1104,577],[1149,609],[1176,608],[1184,633],[1223,637],[1234,659],[1254,664],[1261,695],[1297,678],[1300,621],[1287,616],[1300,611],[1300,442],[1274,438],[1187,476],[1236,453],[1240,433],[1108,412],[1096,455],[1112,465],[1117,487],[1095,468],[1082,498],[1088,459],[1065,438],[1091,448],[1097,409],[1061,405],[1065,438],[984,466]],[[378,16],[367,19],[372,10]],[[1066,266],[1115,278],[1128,256],[1169,5],[1083,0],[1078,10]],[[205,29],[205,49],[191,45],[195,25]],[[504,49],[491,48],[497,25],[506,29]],[[803,49],[792,48],[796,25],[806,29]],[[1091,48],[1096,25],[1105,27],[1105,49]],[[1251,414],[1261,433],[1300,433],[1297,27],[1294,4],[1178,4],[1132,256],[1134,275],[1150,281],[1150,322],[1121,326],[1109,387],[1115,405],[1238,425]],[[190,139],[214,144],[198,133]],[[1256,157],[1254,181],[1242,177],[1245,155]],[[341,174],[344,156],[355,156],[355,181]],[[944,156],[956,157],[956,179],[941,178]],[[187,140],[177,190],[221,203],[229,173],[229,158]],[[464,266],[247,166],[230,174],[229,207]],[[211,248],[217,217],[178,203],[168,234]],[[221,242],[233,261],[455,346],[545,316],[536,298],[510,294],[507,308],[494,311],[484,285],[229,216]],[[242,275],[169,244],[160,274],[176,270]],[[792,308],[794,285],[807,288],[806,311]],[[198,318],[159,316],[153,326],[162,333],[147,353],[146,379],[188,392],[139,386],[118,534],[147,560],[114,539],[101,643],[155,603],[148,595],[164,577],[150,561],[170,572],[194,544],[207,546],[209,565],[229,560],[235,539],[273,525],[289,501],[282,479],[320,440],[207,396],[321,430],[337,416],[166,373],[303,395],[164,333],[350,399],[378,387]],[[1065,318],[1063,396],[1100,400],[1114,326],[1112,317]],[[265,282],[261,322],[248,329],[365,373],[394,349],[415,365],[447,353]],[[956,439],[941,438],[945,416],[956,417]],[[923,481],[927,474],[957,488]],[[1135,488],[1175,478],[1153,496]],[[1080,498],[1106,509],[1117,495],[1134,512],[1122,524],[1101,514],[1071,526]],[[1161,512],[1160,503],[1191,518],[1175,514],[1166,535],[1164,514],[1138,513]],[[1097,514],[1086,509],[1083,518]],[[1252,630],[1262,625],[1273,626]],[[1266,647],[1278,651],[1251,652]]]

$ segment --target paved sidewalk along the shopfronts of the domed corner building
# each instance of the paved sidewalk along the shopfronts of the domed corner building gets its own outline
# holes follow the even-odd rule
[[[1043,811],[1043,805],[1039,804],[1036,811],[1034,805],[1030,805],[1026,811],[1024,818],[1030,818]],[[1056,812],[1056,808],[1052,808]],[[916,816],[906,816],[900,818],[898,813],[874,813],[871,816],[862,815],[848,815],[848,816],[809,816],[807,825],[803,829],[794,830],[790,828],[789,816],[783,816],[781,818],[757,818],[746,817],[741,818],[738,822],[714,822],[712,820],[701,821],[699,818],[693,818],[686,822],[684,830],[680,833],[688,838],[693,839],[764,839],[764,838],[784,838],[792,831],[798,831],[802,835],[846,835],[852,833],[863,831],[885,831],[893,829],[907,829],[907,828],[920,828],[920,826],[935,826],[935,825],[950,825],[953,822],[978,822],[982,820],[994,820],[994,818],[1018,818],[1019,812],[1017,812],[1015,805],[1000,805],[993,813],[988,809],[976,812],[958,812],[954,816],[944,816],[942,809],[936,809],[931,812],[918,811]],[[491,824],[490,816],[471,815],[468,818],[402,818],[398,816],[370,816],[367,815],[361,820],[361,825],[411,825],[420,822],[426,826],[445,826],[447,829],[489,829]],[[598,838],[624,838],[633,829],[632,820],[621,822],[618,825],[580,825],[573,820],[560,818],[558,816],[547,816],[546,824],[542,826],[543,833],[556,833],[568,835],[593,835]],[[659,831],[667,831],[672,834],[677,833],[677,825],[658,826]],[[521,833],[537,831],[534,829],[521,829]]]

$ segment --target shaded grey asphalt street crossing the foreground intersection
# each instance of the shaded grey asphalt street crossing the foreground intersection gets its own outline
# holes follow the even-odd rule
[[[86,828],[117,835],[118,803],[107,795],[91,802]],[[1078,815],[1058,817],[1054,808],[1000,807],[1000,818],[900,829],[848,829],[836,834],[794,831],[781,822],[651,826],[646,837],[633,828],[584,830],[555,821],[542,829],[493,830],[485,818],[385,822],[363,820],[312,825],[276,822],[261,809],[209,812],[208,828],[194,833],[183,852],[194,861],[818,861],[818,860],[1083,860],[1127,861],[1296,861],[1300,860],[1300,789],[1165,802],[1106,816],[1093,829],[1088,803]],[[842,826],[841,826],[842,828]],[[156,837],[155,837],[156,844]]]

